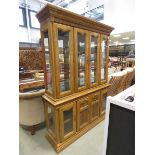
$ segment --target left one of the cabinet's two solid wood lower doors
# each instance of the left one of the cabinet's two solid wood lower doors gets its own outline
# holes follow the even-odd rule
[[[77,101],[77,130],[82,129],[89,124],[89,107],[88,97],[84,97]]]

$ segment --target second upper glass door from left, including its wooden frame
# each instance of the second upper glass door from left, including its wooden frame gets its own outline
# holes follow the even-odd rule
[[[87,87],[88,78],[88,31],[75,28],[74,29],[75,43],[75,87],[76,91],[84,90]]]

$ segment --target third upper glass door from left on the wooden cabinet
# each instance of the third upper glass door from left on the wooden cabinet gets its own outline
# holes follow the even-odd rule
[[[100,35],[90,33],[90,86],[98,84]]]

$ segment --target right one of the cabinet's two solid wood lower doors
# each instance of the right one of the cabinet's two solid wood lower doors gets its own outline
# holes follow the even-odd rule
[[[91,121],[94,121],[99,117],[99,103],[100,103],[100,93],[93,93],[90,96],[90,114]]]

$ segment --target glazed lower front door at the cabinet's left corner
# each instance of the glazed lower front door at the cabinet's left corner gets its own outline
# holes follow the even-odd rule
[[[60,139],[64,141],[76,132],[76,102],[60,108]]]

